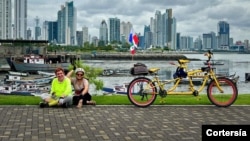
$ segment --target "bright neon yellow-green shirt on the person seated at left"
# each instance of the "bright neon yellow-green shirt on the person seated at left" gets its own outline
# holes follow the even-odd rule
[[[55,93],[56,97],[68,96],[72,94],[71,81],[68,77],[64,77],[62,82],[58,78],[54,78],[51,84],[50,93]]]

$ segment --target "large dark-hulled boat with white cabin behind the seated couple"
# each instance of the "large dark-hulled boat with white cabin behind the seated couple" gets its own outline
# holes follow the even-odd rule
[[[6,60],[12,71],[37,73],[37,71],[53,72],[57,67],[62,67],[67,71],[72,58],[62,58],[64,57],[47,58],[42,55],[28,54],[19,59],[7,57]]]

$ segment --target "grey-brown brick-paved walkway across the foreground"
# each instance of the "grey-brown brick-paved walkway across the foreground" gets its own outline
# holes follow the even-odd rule
[[[201,141],[203,124],[249,124],[250,106],[0,106],[0,141]]]

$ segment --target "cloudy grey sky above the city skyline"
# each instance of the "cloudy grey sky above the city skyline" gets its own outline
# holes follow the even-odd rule
[[[104,19],[119,18],[131,22],[135,32],[143,33],[144,25],[150,24],[156,10],[164,13],[172,8],[181,36],[196,39],[202,33],[217,34],[219,21],[230,24],[230,37],[250,40],[249,0],[73,0],[77,9],[77,30],[89,28],[91,36],[99,37],[99,27]],[[40,25],[44,20],[55,21],[57,12],[66,0],[28,0],[28,26],[35,25],[36,16]]]

